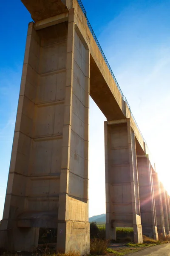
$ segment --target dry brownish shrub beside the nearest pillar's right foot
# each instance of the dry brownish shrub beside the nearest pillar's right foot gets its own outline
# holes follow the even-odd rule
[[[108,241],[99,238],[94,238],[90,242],[90,253],[94,255],[106,254],[107,247]]]

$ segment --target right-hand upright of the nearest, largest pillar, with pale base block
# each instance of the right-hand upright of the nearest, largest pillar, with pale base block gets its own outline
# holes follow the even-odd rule
[[[69,11],[66,96],[62,142],[57,249],[89,253],[88,144],[90,52]],[[76,30],[75,30],[76,28]],[[78,35],[79,34],[79,35]]]

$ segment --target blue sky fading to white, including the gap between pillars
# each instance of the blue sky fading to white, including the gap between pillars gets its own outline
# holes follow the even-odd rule
[[[169,189],[170,0],[83,0],[88,19]],[[0,15],[0,218],[6,192],[28,22],[20,0]],[[105,117],[90,102],[89,215],[105,212]],[[96,130],[96,125],[98,129]],[[169,189],[170,192],[170,189]]]

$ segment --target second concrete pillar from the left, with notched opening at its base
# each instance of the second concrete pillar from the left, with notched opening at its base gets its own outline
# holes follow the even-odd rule
[[[106,237],[116,240],[116,227],[133,227],[142,243],[135,134],[130,119],[105,122]]]

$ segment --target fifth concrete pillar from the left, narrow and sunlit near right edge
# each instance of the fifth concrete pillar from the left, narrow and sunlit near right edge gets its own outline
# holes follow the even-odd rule
[[[166,192],[164,189],[164,185],[160,182],[161,186],[161,198],[162,198],[162,206],[163,206],[163,213],[164,213],[164,227],[165,232],[167,235],[170,234],[170,226],[169,226],[169,218],[168,218],[168,211],[167,211],[167,200],[166,200]]]

